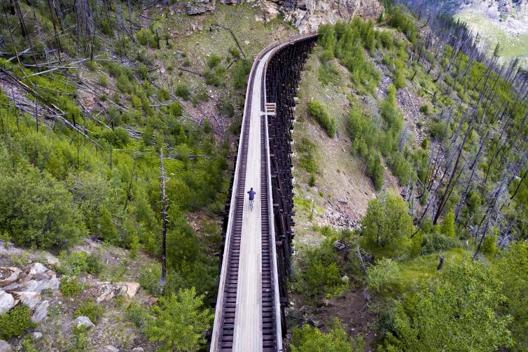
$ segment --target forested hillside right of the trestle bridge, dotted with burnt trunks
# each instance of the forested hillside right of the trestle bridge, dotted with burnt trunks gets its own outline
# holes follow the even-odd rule
[[[319,27],[294,138],[293,351],[528,348],[528,76],[475,41],[389,1]]]

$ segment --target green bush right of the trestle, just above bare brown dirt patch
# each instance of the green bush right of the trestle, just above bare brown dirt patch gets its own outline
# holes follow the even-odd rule
[[[327,238],[320,246],[308,249],[300,260],[295,288],[308,302],[333,297],[347,287],[347,283],[341,280],[332,240]]]

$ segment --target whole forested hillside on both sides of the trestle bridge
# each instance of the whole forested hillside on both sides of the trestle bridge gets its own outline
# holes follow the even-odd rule
[[[297,33],[283,13],[332,22],[296,99],[289,351],[528,351],[519,60],[393,1],[193,6],[1,2],[0,351],[207,350],[247,76]]]

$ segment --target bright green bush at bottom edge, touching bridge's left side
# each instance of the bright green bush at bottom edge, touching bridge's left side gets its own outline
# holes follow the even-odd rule
[[[149,341],[159,343],[158,351],[197,351],[205,344],[203,334],[214,315],[204,309],[203,299],[194,288],[160,297],[145,327]]]

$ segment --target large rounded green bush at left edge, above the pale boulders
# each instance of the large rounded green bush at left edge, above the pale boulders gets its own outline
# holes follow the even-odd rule
[[[0,177],[0,230],[17,246],[66,248],[88,232],[71,194],[48,172],[20,167]]]

